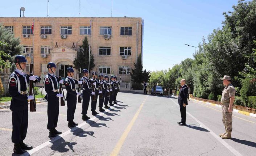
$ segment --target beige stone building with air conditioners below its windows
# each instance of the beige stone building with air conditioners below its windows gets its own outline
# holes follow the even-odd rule
[[[34,35],[31,29],[33,21]],[[143,54],[144,20],[141,18],[1,17],[0,23],[21,39],[28,64],[34,63],[35,75],[46,74],[47,63],[54,62],[56,75],[66,77],[65,71],[74,66],[73,60],[85,36],[90,40],[94,55],[92,71],[122,76],[123,82],[130,81],[133,62]],[[29,71],[29,66],[26,71]]]

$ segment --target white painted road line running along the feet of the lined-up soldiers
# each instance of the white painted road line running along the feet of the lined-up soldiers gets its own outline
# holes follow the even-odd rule
[[[110,109],[113,109],[113,108],[114,108],[113,106],[110,107]],[[105,112],[110,111],[110,109],[106,110]],[[100,114],[98,114],[98,115],[102,115],[102,114],[104,114],[104,113],[100,113]],[[96,116],[98,116],[98,115],[96,115]],[[96,118],[96,116],[93,117],[93,118],[91,118],[90,120],[93,121],[94,119],[98,119],[98,118]],[[105,116],[105,115],[102,115],[102,116]],[[90,122],[91,122],[91,121],[90,121]],[[66,132],[64,132],[64,133],[62,133],[61,135],[58,135],[58,136],[56,136],[55,138],[53,138],[53,139],[51,139],[51,140],[48,140],[48,141],[45,142],[45,143],[42,143],[41,145],[39,145],[39,146],[37,146],[37,147],[35,147],[35,148],[33,148],[33,149],[27,151],[26,153],[23,153],[21,156],[30,156],[30,155],[32,155],[33,153],[39,151],[40,149],[42,149],[42,148],[48,146],[49,144],[52,144],[53,142],[55,142],[55,141],[57,141],[57,140],[63,138],[64,136],[66,136],[66,135],[68,135],[68,134],[74,132],[74,131],[77,130],[78,128],[81,128],[81,127],[83,127],[84,125],[89,124],[90,122],[87,123],[87,122],[85,121],[85,122],[79,124],[78,126],[76,126],[76,127],[72,128],[72,129],[70,129],[70,130],[68,130],[68,131],[66,131]]]

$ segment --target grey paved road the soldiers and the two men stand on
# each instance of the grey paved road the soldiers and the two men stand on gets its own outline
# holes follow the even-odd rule
[[[119,93],[118,105],[82,121],[81,104],[77,105],[73,129],[67,127],[66,106],[60,106],[57,130],[62,135],[49,138],[47,103],[29,112],[25,143],[34,149],[24,155],[35,156],[254,156],[256,153],[256,118],[234,113],[233,139],[223,140],[218,134],[224,128],[219,107],[189,101],[187,124],[180,121],[176,97]],[[97,104],[98,106],[98,104]],[[89,109],[90,110],[90,107]],[[0,155],[16,156],[11,143],[11,111],[0,109]],[[50,140],[51,139],[51,140]]]

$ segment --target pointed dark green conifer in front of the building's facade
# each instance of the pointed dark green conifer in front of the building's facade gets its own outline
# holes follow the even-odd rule
[[[79,52],[77,52],[77,58],[74,59],[73,64],[75,65],[74,68],[76,69],[88,69],[89,66],[89,44],[87,37],[84,37],[83,39],[83,45],[82,49],[80,49]],[[91,53],[90,50],[90,69],[89,71],[95,67],[94,64],[94,56]]]

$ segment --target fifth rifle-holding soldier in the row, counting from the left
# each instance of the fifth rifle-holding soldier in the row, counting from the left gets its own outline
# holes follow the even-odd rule
[[[95,76],[95,79],[93,79],[94,76]],[[92,96],[93,95],[91,94],[91,111],[92,111],[92,115],[99,114],[98,112],[96,112],[96,104],[97,104],[98,95],[99,95],[99,82],[98,82],[97,78],[98,78],[97,73],[96,72],[92,72],[91,82],[93,82],[92,85],[94,85],[94,87],[95,87],[95,95],[96,95],[96,101],[92,101]]]

